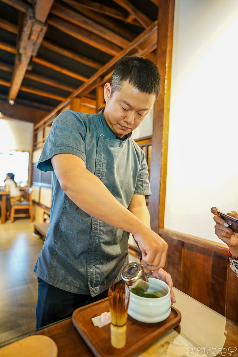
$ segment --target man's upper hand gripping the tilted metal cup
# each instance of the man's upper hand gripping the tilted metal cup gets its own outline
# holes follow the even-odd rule
[[[168,245],[163,238],[144,225],[140,226],[133,237],[149,270],[158,271],[164,267]]]

